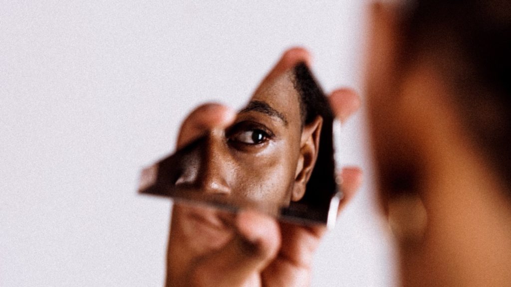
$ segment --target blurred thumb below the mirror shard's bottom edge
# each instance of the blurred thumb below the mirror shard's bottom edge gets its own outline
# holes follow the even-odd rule
[[[280,249],[278,224],[254,211],[242,211],[236,229],[223,248],[196,262],[189,277],[191,286],[245,286],[251,280],[258,283],[259,273]]]

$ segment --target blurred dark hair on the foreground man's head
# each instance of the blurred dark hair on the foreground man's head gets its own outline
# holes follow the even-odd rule
[[[453,100],[467,133],[511,186],[511,2],[419,0],[407,5],[402,62],[420,53],[434,59],[457,94]]]

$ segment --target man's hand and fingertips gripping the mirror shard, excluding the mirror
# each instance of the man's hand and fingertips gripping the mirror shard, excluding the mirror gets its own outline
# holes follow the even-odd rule
[[[309,53],[300,48],[287,51],[264,81],[271,81],[299,62],[311,64]],[[330,103],[341,122],[358,110],[360,100],[350,89],[331,93]],[[236,112],[219,104],[206,104],[185,119],[177,147],[184,147],[207,131],[227,128]],[[361,184],[358,168],[341,173],[344,197],[339,212]],[[221,218],[219,228],[201,238],[187,238],[179,230],[196,207],[176,205],[169,237],[167,286],[308,286],[313,255],[326,228],[280,223],[255,211],[226,215],[204,208],[203,214]],[[195,213],[194,213],[195,212]],[[200,211],[199,211],[200,212]],[[174,229],[175,226],[176,229]],[[221,227],[220,227],[221,226]],[[184,227],[186,228],[186,227]],[[214,237],[214,238],[213,238]]]

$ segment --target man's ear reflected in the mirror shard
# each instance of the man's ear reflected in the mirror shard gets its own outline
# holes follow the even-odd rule
[[[291,201],[298,201],[304,197],[307,182],[311,177],[319,152],[319,137],[323,118],[317,116],[314,121],[304,126],[301,131],[300,156],[296,164],[295,181],[291,193]]]

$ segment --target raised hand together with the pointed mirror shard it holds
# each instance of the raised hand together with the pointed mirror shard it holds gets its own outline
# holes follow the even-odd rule
[[[176,203],[168,287],[308,285],[339,202],[332,112],[304,64],[309,57],[287,51],[236,115],[218,104],[194,110],[178,151],[143,172],[142,193]],[[357,109],[353,92],[337,90],[330,100],[341,120]],[[360,181],[353,171],[343,169],[341,205]]]

